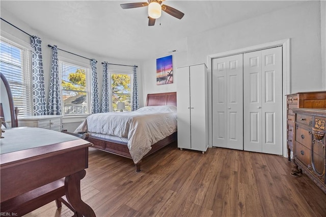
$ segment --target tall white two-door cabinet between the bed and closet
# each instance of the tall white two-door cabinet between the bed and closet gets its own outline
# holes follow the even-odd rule
[[[202,151],[208,147],[207,66],[176,70],[178,148]]]

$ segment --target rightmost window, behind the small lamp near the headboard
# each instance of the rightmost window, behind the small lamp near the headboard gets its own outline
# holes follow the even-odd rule
[[[131,81],[132,74],[110,73],[111,77],[111,101],[113,111],[118,111],[118,102],[124,102],[125,111],[131,111]]]

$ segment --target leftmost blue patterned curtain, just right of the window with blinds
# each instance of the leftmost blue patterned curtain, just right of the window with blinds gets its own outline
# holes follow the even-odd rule
[[[32,99],[34,116],[46,115],[41,42],[38,36],[31,37],[31,46],[34,48],[32,51]]]

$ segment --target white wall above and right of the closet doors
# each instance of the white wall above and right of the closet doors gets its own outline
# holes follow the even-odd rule
[[[189,36],[188,63],[208,55],[290,38],[291,92],[323,89],[320,49],[320,2],[289,8]]]

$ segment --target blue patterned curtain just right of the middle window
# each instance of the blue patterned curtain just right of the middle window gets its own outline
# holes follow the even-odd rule
[[[91,96],[91,114],[100,112],[100,101],[98,98],[97,71],[95,59],[91,60],[92,67],[92,96]]]

